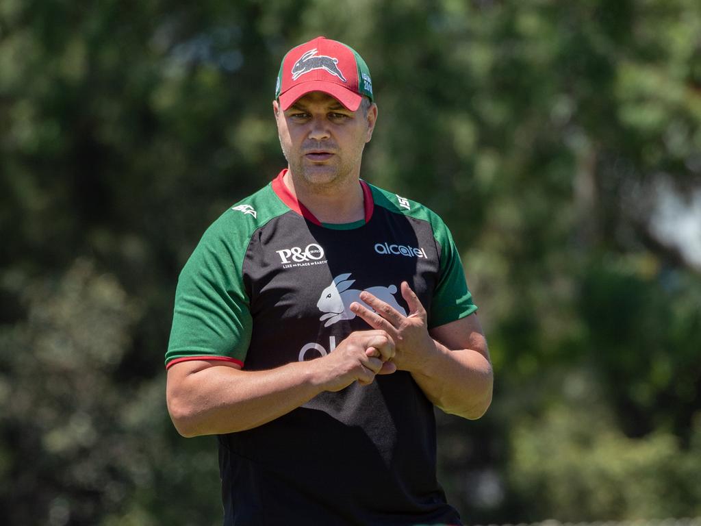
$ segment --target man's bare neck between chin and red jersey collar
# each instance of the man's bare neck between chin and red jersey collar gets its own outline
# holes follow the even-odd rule
[[[287,170],[285,186],[322,223],[352,223],[365,219],[363,191],[357,177],[327,186],[308,184]]]

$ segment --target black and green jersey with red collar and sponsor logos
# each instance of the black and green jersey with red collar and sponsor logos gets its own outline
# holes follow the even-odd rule
[[[167,366],[229,360],[265,370],[332,352],[368,290],[430,328],[477,307],[451,235],[427,208],[361,181],[365,220],[322,224],[285,170],[207,229],[180,274]],[[226,525],[459,522],[435,476],[433,405],[407,372],[321,393],[273,422],[219,436]]]

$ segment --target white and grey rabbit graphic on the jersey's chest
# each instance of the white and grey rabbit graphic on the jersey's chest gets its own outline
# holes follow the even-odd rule
[[[334,278],[331,285],[325,288],[321,293],[321,297],[316,306],[324,313],[319,318],[319,321],[326,320],[324,327],[333,325],[337,321],[352,320],[355,318],[355,313],[351,311],[351,303],[353,302],[358,302],[361,305],[367,306],[371,311],[373,310],[371,306],[360,299],[360,292],[362,292],[362,290],[349,288],[355,283],[354,279],[348,279],[350,276],[350,272],[348,274],[339,274],[339,276]],[[381,299],[386,304],[393,306],[404,316],[407,316],[407,311],[397,303],[397,300],[393,296],[397,292],[397,287],[395,285],[390,285],[389,287],[370,287],[365,290],[378,299]]]

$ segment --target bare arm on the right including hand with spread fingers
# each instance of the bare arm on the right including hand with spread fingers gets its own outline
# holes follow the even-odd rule
[[[409,316],[368,292],[360,299],[372,306],[351,304],[351,310],[375,329],[388,332],[395,341],[397,369],[411,373],[426,397],[444,412],[477,419],[491,403],[494,375],[489,351],[477,315],[427,330],[426,310],[402,283],[402,296],[409,305]]]

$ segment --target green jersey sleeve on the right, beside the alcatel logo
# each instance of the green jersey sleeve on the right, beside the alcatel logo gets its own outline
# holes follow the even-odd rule
[[[440,250],[440,277],[428,317],[428,327],[435,328],[469,316],[477,310],[477,305],[472,302],[460,254],[448,227],[433,213],[430,222]]]

